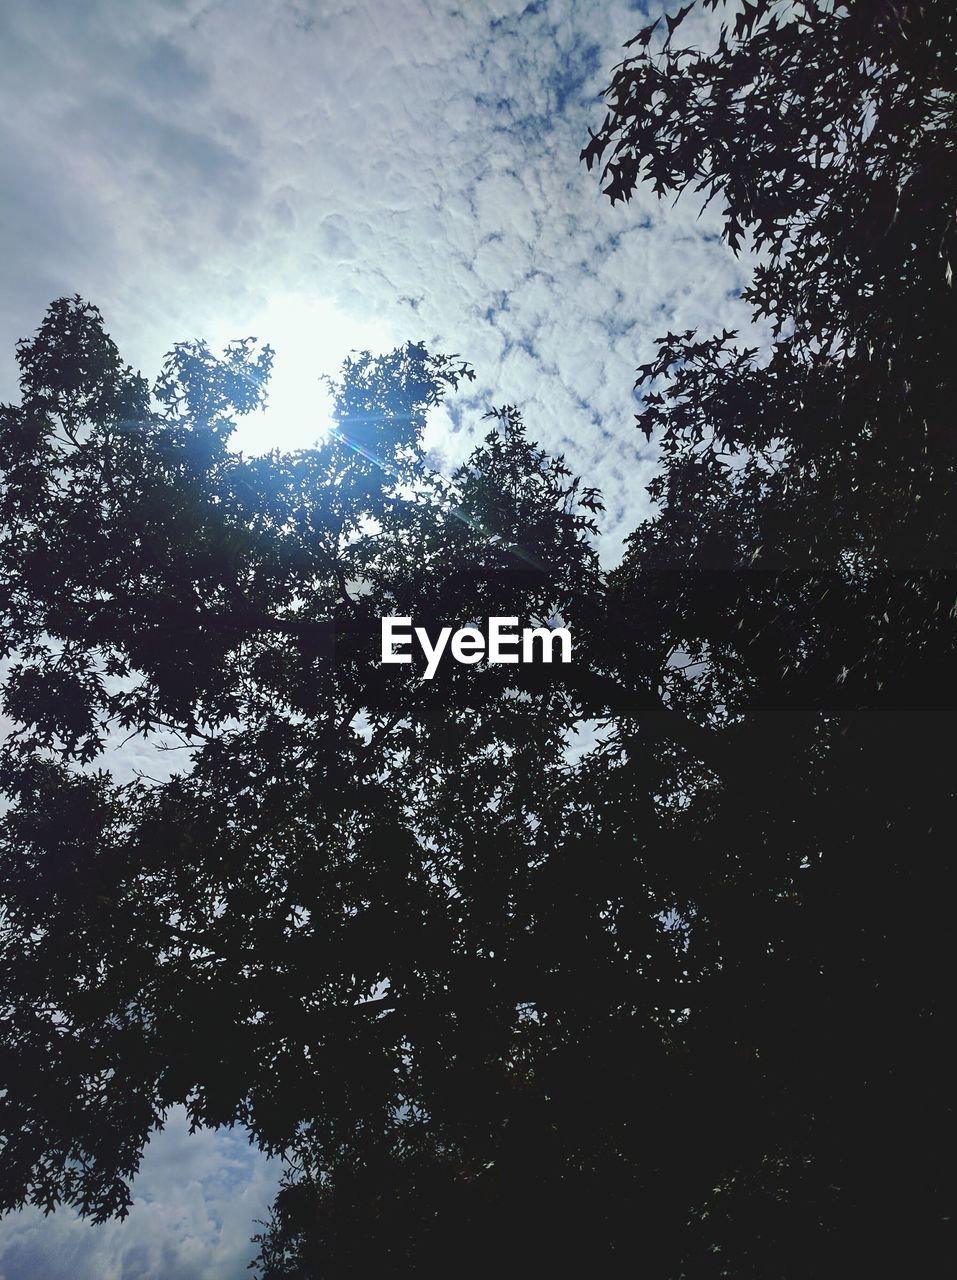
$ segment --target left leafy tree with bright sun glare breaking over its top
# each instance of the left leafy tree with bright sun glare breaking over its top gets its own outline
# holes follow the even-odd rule
[[[154,412],[99,312],[60,300],[19,360],[1,447],[4,1196],[102,1217],[173,1101],[273,1151],[304,1123],[368,1125],[367,1106],[385,1123],[399,1024],[494,988],[464,908],[477,955],[450,951],[449,897],[476,873],[470,815],[490,814],[496,858],[519,838],[567,695],[526,700],[522,667],[384,667],[377,620],[573,620],[597,581],[595,497],[512,410],[452,480],[431,475],[425,412],[470,370],[421,347],[352,360],[329,440],[255,460],[228,435],[267,349],[177,348]],[[110,726],[168,731],[191,767],[114,785],[88,767]]]

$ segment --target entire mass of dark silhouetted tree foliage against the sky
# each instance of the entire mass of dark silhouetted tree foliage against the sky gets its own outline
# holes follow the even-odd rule
[[[720,201],[775,337],[659,340],[612,573],[513,407],[430,470],[458,357],[356,357],[325,442],[244,458],[269,348],[182,344],[151,398],[81,300],[20,344],[5,1207],[123,1212],[180,1102],[289,1158],[267,1280],[944,1274],[954,18],[756,0],[705,54],[692,8],[583,156]],[[576,660],[421,681],[388,614],[562,618]],[[118,785],[116,730],[178,772]]]

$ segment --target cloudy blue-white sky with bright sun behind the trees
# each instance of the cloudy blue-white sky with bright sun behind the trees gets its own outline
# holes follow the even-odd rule
[[[154,378],[175,342],[276,349],[247,452],[302,448],[349,349],[476,369],[430,426],[450,470],[491,404],[605,495],[612,564],[655,460],[635,369],[669,329],[747,328],[718,211],[612,209],[578,163],[656,0],[3,0],[0,401],[56,297]],[[674,6],[670,6],[672,9]],[[706,41],[696,14],[682,35]],[[124,1224],[0,1224],[0,1280],[239,1280],[279,1170],[242,1134],[156,1135]]]

